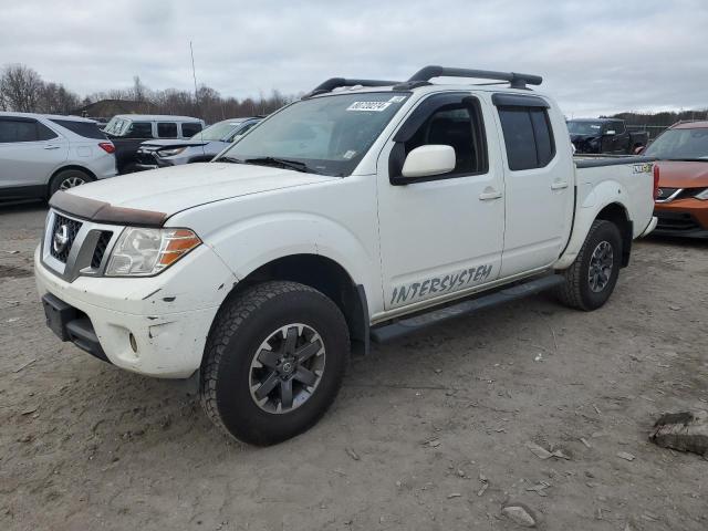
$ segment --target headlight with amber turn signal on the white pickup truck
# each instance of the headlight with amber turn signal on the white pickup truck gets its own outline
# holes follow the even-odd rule
[[[106,277],[149,277],[168,268],[201,243],[189,229],[126,228],[113,251]]]

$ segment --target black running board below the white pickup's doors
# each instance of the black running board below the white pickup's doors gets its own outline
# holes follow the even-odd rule
[[[395,323],[372,329],[371,337],[375,343],[396,340],[403,335],[417,332],[433,324],[441,323],[450,319],[459,317],[460,315],[467,315],[468,313],[473,313],[486,308],[496,306],[497,304],[503,304],[506,302],[516,301],[517,299],[523,299],[524,296],[550,290],[551,288],[562,284],[564,281],[565,279],[560,274],[541,277],[540,279],[516,284],[511,288],[496,291],[488,295],[482,294],[477,299],[470,299],[452,304],[451,306],[431,310],[420,315],[402,319]]]

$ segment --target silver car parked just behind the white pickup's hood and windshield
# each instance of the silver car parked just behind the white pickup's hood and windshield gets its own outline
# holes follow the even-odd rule
[[[136,169],[155,169],[211,160],[238,140],[260,117],[225,119],[186,140],[147,140],[137,150]]]

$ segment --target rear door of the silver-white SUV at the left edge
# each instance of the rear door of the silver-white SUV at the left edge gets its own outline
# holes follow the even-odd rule
[[[0,117],[0,187],[46,185],[69,142],[35,118]]]

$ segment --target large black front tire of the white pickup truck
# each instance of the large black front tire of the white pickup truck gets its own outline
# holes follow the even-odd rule
[[[295,375],[282,375],[263,366],[253,368],[258,354],[269,337],[275,337],[279,329],[287,333],[292,323],[302,323],[303,330],[315,331],[323,344],[323,351],[316,356],[322,360],[319,381],[314,391],[298,382]],[[287,351],[287,340],[279,350]],[[303,350],[305,332],[295,339]],[[316,343],[316,341],[315,341]],[[310,343],[305,342],[305,345]],[[207,416],[228,435],[239,440],[258,446],[281,442],[294,437],[313,426],[334,402],[350,358],[350,336],[346,321],[340,309],[319,291],[288,281],[269,281],[247,289],[242,294],[227,300],[219,311],[211,327],[200,374],[201,405]],[[281,358],[278,364],[284,367]],[[313,362],[315,356],[312,356]],[[270,362],[270,360],[269,360]],[[306,363],[306,362],[303,362]],[[300,367],[295,372],[300,371]],[[256,394],[260,388],[252,385],[259,371],[270,372],[264,378],[268,382],[273,375],[279,378],[271,392],[274,398],[267,399],[264,405],[257,403]],[[311,374],[315,374],[313,369]],[[300,398],[308,395],[301,405],[287,413],[266,410],[273,407],[280,396],[281,410],[287,402],[281,381],[290,376],[290,396],[293,388]],[[259,382],[260,383],[260,382]],[[266,387],[264,383],[260,383]],[[306,392],[304,393],[303,389]],[[254,394],[256,393],[256,394]],[[270,396],[270,395],[269,395]],[[290,398],[290,400],[293,400]],[[291,406],[296,400],[291,402]]]

